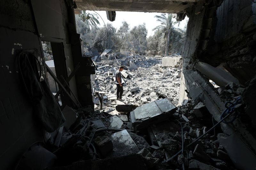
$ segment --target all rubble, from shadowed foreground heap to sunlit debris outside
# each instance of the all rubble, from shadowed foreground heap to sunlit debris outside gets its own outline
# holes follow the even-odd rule
[[[113,56],[116,60],[94,63],[94,110],[62,110],[66,122],[49,134],[45,148],[52,156],[45,159],[48,169],[234,169],[218,141],[225,136],[220,125],[208,132],[217,122],[204,103],[189,98],[177,106],[180,68],[163,68],[160,58],[135,55],[116,64]],[[122,71],[124,101],[116,100],[113,79],[120,63],[136,66]],[[222,95],[235,99],[238,88],[229,84]]]

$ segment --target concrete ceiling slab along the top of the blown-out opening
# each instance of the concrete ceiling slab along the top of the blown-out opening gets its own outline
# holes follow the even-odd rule
[[[199,0],[75,0],[76,11],[136,11],[179,13]]]

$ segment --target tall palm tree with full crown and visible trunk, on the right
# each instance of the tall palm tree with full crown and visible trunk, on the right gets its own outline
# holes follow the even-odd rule
[[[156,21],[159,21],[161,25],[156,26],[153,29],[153,31],[158,30],[158,35],[164,34],[164,38],[166,39],[165,55],[168,55],[168,47],[170,45],[170,34],[176,31],[173,26],[178,22],[172,21],[172,14],[167,14],[167,17],[165,16],[165,14],[156,15],[155,18],[157,18]]]

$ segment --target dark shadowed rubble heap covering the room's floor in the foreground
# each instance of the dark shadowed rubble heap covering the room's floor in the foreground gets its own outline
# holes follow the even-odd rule
[[[159,103],[165,100],[160,99]],[[120,166],[138,170],[182,169],[182,166],[200,170],[234,169],[225,148],[217,140],[218,128],[200,137],[213,126],[204,104],[189,99],[176,107],[168,102],[172,107],[162,114],[139,122],[132,121],[132,112],[117,116],[95,112],[89,107],[73,110],[66,106],[65,116],[69,114],[76,119],[63,125],[57,137],[50,138],[47,149],[57,156],[51,169],[120,169]],[[143,116],[143,107],[153,107],[152,103],[155,102],[135,108],[134,111],[142,110],[135,117]],[[200,139],[191,144],[197,138]],[[182,141],[183,153],[180,152]]]

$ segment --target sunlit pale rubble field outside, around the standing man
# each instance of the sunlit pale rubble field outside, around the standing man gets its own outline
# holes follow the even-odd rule
[[[124,104],[140,106],[159,98],[168,97],[178,105],[181,66],[164,68],[161,66],[162,57],[142,57],[140,55],[120,56],[116,60],[101,60],[95,62],[97,67],[94,92],[104,92],[103,110],[115,109],[116,84],[115,72],[123,65],[121,72],[126,86],[122,99]],[[99,109],[100,99],[95,96],[95,110]],[[121,104],[123,104],[121,102]],[[118,114],[114,112],[113,114]]]

